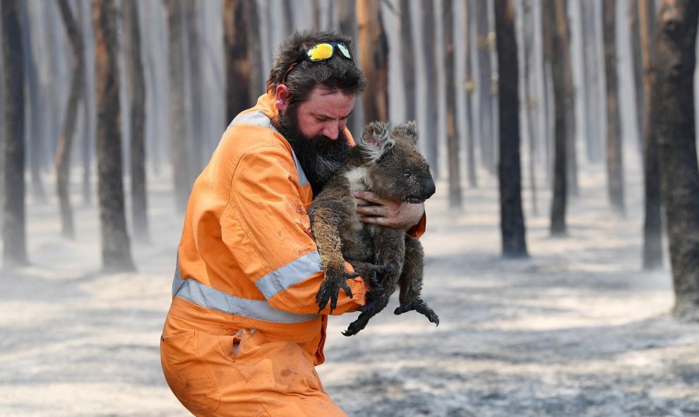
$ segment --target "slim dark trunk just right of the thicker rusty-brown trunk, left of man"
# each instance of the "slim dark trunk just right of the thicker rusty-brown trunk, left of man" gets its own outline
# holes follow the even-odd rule
[[[123,0],[126,71],[131,102],[131,217],[133,238],[148,241],[148,196],[145,176],[145,75],[136,0]]]

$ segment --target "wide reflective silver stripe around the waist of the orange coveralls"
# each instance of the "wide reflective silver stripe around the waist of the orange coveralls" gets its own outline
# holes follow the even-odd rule
[[[172,282],[172,296],[184,298],[200,306],[219,310],[224,313],[241,315],[255,320],[278,323],[307,322],[318,317],[316,314],[295,314],[277,310],[267,301],[249,300],[225,294],[193,279],[182,279],[179,267],[175,270]]]

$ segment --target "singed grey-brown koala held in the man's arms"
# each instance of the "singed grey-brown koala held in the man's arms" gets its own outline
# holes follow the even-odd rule
[[[340,289],[352,296],[348,278],[359,274],[371,289],[366,305],[359,308],[359,318],[342,333],[345,336],[357,334],[369,319],[386,308],[398,285],[400,306],[395,314],[417,310],[430,322],[439,324],[437,315],[420,298],[422,244],[400,229],[360,222],[357,205],[370,203],[352,195],[352,191],[372,191],[381,198],[406,203],[422,203],[430,198],[435,186],[429,165],[417,150],[418,137],[414,121],[398,126],[369,123],[309,208],[311,231],[325,271],[316,295],[318,311],[330,301],[332,312]],[[345,260],[357,273],[345,272]]]

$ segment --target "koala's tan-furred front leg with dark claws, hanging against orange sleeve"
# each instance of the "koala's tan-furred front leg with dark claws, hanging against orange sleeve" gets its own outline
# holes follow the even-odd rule
[[[352,290],[349,289],[347,279],[357,277],[357,274],[345,272],[345,259],[340,250],[340,226],[344,205],[329,204],[313,207],[309,212],[313,238],[316,239],[318,253],[321,255],[321,263],[325,271],[325,279],[316,294],[318,313],[325,308],[330,301],[330,313],[337,307],[337,294],[340,288],[348,297],[352,298]]]

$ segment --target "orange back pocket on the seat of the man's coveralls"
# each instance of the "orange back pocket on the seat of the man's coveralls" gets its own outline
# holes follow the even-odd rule
[[[209,365],[201,358],[198,332],[191,330],[160,339],[160,360],[165,380],[189,411],[213,411],[220,394]]]

